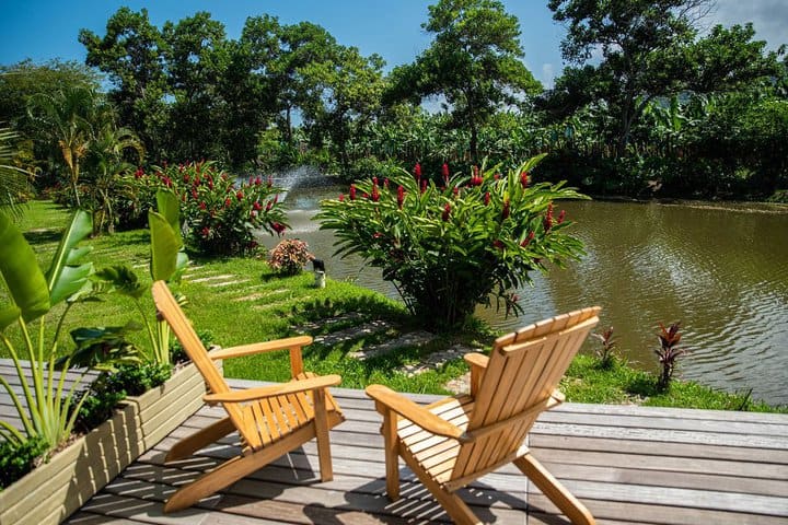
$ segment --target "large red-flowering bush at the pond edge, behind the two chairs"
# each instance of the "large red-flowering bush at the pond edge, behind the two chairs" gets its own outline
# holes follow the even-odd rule
[[[392,281],[408,310],[431,329],[462,325],[495,300],[520,314],[514,290],[530,272],[578,259],[582,243],[567,233],[554,200],[587,199],[564,183],[532,184],[529,160],[507,175],[498,166],[434,178],[413,174],[359,180],[348,195],[321,202],[321,229],[334,230],[337,254],[360,255]]]

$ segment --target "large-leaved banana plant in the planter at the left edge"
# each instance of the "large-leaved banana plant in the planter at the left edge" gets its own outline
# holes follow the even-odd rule
[[[20,397],[2,376],[0,384],[11,396],[27,439],[42,438],[49,450],[68,440],[84,400],[84,396],[74,399],[81,376],[67,389],[66,374],[60,374],[57,382],[55,375],[59,370],[58,338],[66,315],[73,304],[91,296],[93,291],[89,279],[93,265],[84,261],[91,248],[78,247],[91,230],[90,214],[78,211],[60,240],[48,271],[44,273],[22,232],[7,214],[0,213],[0,275],[8,301],[0,304],[0,340],[13,360],[27,407],[22,405]],[[48,341],[45,337],[45,314],[61,302],[66,303],[66,307],[60,314],[55,335]],[[35,328],[31,329],[34,322],[38,323],[37,334]],[[19,326],[23,341],[20,350],[9,335],[9,328],[14,323]],[[31,380],[25,375],[22,359],[30,361]],[[68,366],[68,358],[65,364]],[[74,400],[76,409],[72,409]],[[0,436],[14,443],[25,441],[23,433],[5,421],[0,421]]]

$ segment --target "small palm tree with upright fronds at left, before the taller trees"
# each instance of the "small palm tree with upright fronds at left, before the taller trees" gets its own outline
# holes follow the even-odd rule
[[[80,162],[88,154],[94,127],[104,119],[106,110],[96,92],[83,85],[63,88],[53,95],[38,93],[27,103],[31,118],[44,127],[60,149],[77,207]]]

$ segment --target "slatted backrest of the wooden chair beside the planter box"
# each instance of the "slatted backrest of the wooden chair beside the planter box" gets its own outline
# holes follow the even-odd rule
[[[224,377],[208,355],[208,350],[206,350],[202,341],[195,332],[192,323],[184,315],[166,283],[164,281],[154,282],[152,294],[157,311],[167,322],[175,337],[181,341],[184,351],[202,374],[202,378],[208,384],[210,392],[212,394],[230,392]],[[258,422],[260,415],[257,413],[259,411],[257,404],[250,404],[243,408],[235,404],[222,405],[247,445],[256,450],[263,445],[264,441],[267,441],[265,439],[265,424]]]

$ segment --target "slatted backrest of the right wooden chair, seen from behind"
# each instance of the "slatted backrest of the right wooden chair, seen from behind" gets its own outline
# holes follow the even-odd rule
[[[467,431],[511,419],[462,445],[452,479],[472,476],[509,462],[546,405],[572,358],[596,325],[599,307],[553,317],[495,341],[476,394]],[[531,410],[534,409],[534,410]],[[519,415],[530,416],[518,419]]]

